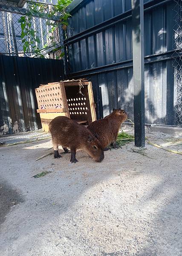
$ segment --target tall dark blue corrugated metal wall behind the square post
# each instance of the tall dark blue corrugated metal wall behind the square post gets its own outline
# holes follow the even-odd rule
[[[92,81],[98,118],[102,94],[104,116],[121,107],[133,119],[131,1],[80,2],[71,10],[66,40],[71,76]],[[146,123],[175,125],[173,6],[172,0],[144,0]]]

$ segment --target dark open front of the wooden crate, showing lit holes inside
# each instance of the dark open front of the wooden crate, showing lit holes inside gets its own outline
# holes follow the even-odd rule
[[[80,123],[92,121],[88,85],[84,84],[84,87],[81,88],[82,94],[79,93],[79,90],[79,85],[65,85],[70,118]]]

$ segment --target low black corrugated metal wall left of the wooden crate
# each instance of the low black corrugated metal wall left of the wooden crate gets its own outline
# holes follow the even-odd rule
[[[61,79],[62,60],[0,55],[0,135],[41,128],[35,88]]]

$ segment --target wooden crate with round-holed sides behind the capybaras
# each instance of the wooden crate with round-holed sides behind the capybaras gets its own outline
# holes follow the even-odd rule
[[[91,82],[64,81],[40,85],[35,89],[43,131],[56,116],[67,116],[78,123],[96,120]]]

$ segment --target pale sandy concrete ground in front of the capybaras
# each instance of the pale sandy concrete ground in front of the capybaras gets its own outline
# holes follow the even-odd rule
[[[102,163],[84,152],[35,162],[51,146],[0,148],[0,255],[182,255],[182,155],[131,143]]]

